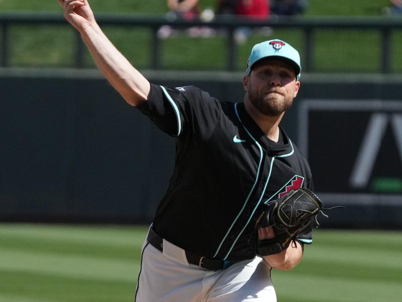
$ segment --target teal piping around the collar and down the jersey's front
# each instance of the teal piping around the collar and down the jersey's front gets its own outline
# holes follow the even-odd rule
[[[239,121],[242,123],[242,125],[243,125],[244,129],[246,130],[247,134],[254,140],[254,142],[255,142],[255,143],[258,145],[258,147],[260,148],[261,159],[260,159],[260,165],[259,165],[259,167],[258,167],[258,173],[259,173],[260,168],[261,168],[261,167],[260,167],[260,166],[261,166],[261,161],[262,161],[262,149],[261,149],[261,145],[258,144],[257,140],[251,135],[251,133],[247,130],[247,128],[244,126],[243,122],[241,121],[240,116],[239,116],[238,111],[237,111],[237,103],[235,104],[235,110],[236,110],[237,118],[238,118]],[[291,152],[289,152],[288,154],[277,155],[277,156],[273,156],[273,157],[272,157],[272,162],[271,162],[271,165],[270,165],[270,167],[269,167],[269,173],[268,173],[267,181],[265,182],[265,186],[264,186],[264,189],[262,190],[261,197],[260,197],[260,199],[258,200],[257,205],[254,207],[253,212],[251,213],[249,219],[247,220],[247,223],[244,225],[244,228],[241,230],[241,232],[239,233],[239,235],[237,236],[237,238],[233,241],[233,244],[232,244],[232,246],[230,247],[230,249],[229,249],[229,251],[228,251],[228,253],[226,254],[226,256],[225,256],[224,259],[226,259],[226,258],[229,256],[229,254],[232,252],[233,247],[235,246],[236,242],[239,240],[240,236],[243,234],[244,230],[246,229],[246,226],[250,223],[251,218],[254,216],[255,211],[257,210],[258,206],[260,205],[260,203],[261,203],[261,201],[262,201],[262,197],[264,196],[265,190],[266,190],[266,188],[267,188],[267,186],[268,186],[268,183],[269,183],[269,180],[270,180],[270,178],[271,178],[273,163],[274,163],[275,159],[276,159],[276,158],[288,157],[288,156],[291,156],[291,155],[294,153],[293,144],[291,143],[290,139],[289,139],[289,142],[290,142],[290,145],[291,145],[291,147],[292,147]],[[256,185],[256,183],[257,183],[257,180],[258,180],[258,173],[257,173],[257,177],[256,177],[256,182],[254,183],[254,186],[253,186],[253,188],[251,189],[251,192],[254,190],[254,187],[255,187],[255,185]],[[250,192],[250,194],[251,194],[251,192]],[[246,204],[247,204],[247,202],[248,202],[248,199],[249,199],[249,197],[250,197],[250,194],[249,194],[249,196],[247,197],[247,200],[246,200],[246,202],[245,202],[245,204],[244,204],[242,210],[239,212],[239,215],[236,217],[235,221],[238,219],[238,217],[240,216],[241,212],[242,212],[243,209],[245,208],[245,206],[246,206]],[[233,222],[233,224],[234,224],[234,222]],[[232,224],[232,226],[233,226],[233,224]],[[231,226],[231,228],[232,228],[232,226]],[[225,236],[225,238],[228,236],[229,232],[230,232],[230,230],[228,231],[228,233],[227,233],[227,235]],[[221,244],[221,245],[222,245],[222,244]]]

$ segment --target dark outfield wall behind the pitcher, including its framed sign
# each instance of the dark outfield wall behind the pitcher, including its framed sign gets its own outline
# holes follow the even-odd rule
[[[240,73],[151,72],[242,101]],[[97,70],[0,69],[0,220],[150,222],[173,139]],[[402,77],[303,74],[282,122],[308,157],[329,212],[322,225],[402,229]]]

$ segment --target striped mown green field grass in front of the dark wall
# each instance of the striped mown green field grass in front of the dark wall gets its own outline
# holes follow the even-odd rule
[[[0,302],[132,301],[145,226],[0,224]],[[316,230],[278,302],[399,302],[401,232]]]

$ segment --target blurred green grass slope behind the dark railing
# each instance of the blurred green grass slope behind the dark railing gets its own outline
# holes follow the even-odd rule
[[[215,6],[214,0],[200,2],[203,8]],[[90,0],[95,16],[100,13],[153,14],[166,13],[166,1]],[[314,16],[380,16],[389,0],[310,0],[305,17]],[[0,0],[0,12],[58,12],[56,0]],[[151,32],[146,28],[104,28],[112,42],[139,69],[150,68]],[[15,67],[72,67],[74,65],[74,30],[70,26],[25,26],[10,28],[10,66]],[[250,48],[267,39],[289,41],[304,56],[303,35],[300,30],[275,29],[269,36],[254,34],[238,48],[237,69],[243,70]],[[318,30],[316,32],[314,64],[318,72],[378,72],[381,39],[373,30]],[[392,41],[392,71],[402,72],[400,49],[402,31],[395,30]],[[190,38],[185,34],[162,41],[162,69],[224,70],[226,68],[226,38]],[[185,54],[185,55],[183,55]],[[203,54],[203,55],[200,55]],[[207,54],[207,55],[205,55]],[[86,53],[85,67],[94,67]]]

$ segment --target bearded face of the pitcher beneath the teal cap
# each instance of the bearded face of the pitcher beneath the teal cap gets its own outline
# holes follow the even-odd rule
[[[278,116],[286,111],[297,95],[300,82],[292,66],[280,59],[262,59],[244,77],[246,101],[262,114]]]

